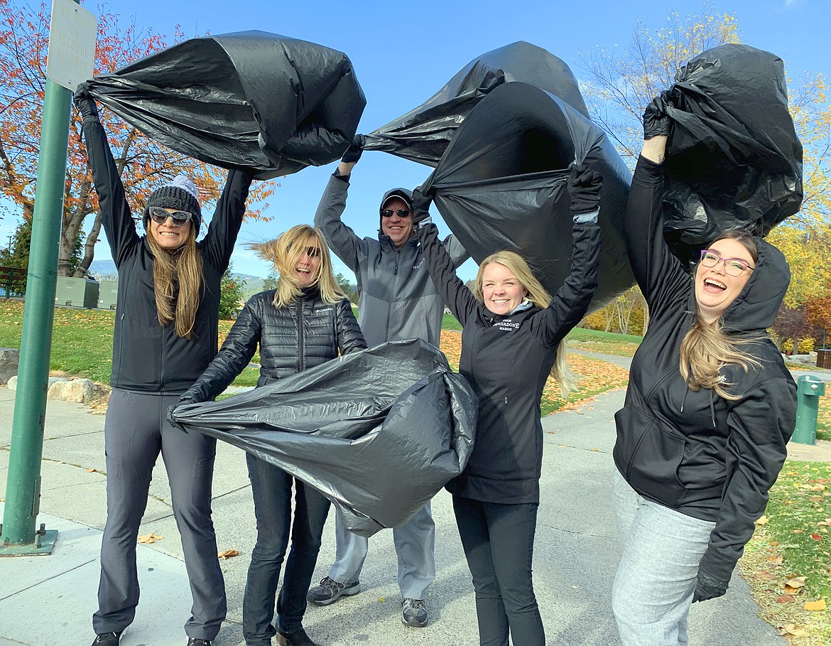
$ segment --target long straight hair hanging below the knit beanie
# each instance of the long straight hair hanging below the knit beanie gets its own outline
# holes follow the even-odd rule
[[[153,291],[159,324],[165,327],[173,321],[179,337],[193,338],[196,311],[202,298],[202,254],[196,245],[196,227],[191,225],[188,239],[172,252],[162,249],[150,231],[147,243],[153,254]],[[177,283],[178,294],[175,293]]]

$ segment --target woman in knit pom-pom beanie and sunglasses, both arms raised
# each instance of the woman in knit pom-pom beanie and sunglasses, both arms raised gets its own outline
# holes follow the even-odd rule
[[[252,178],[229,172],[208,233],[197,242],[202,212],[196,188],[177,177],[150,195],[142,215],[146,235],[140,236],[95,101],[83,88],[75,101],[101,224],[118,269],[112,392],[104,426],[107,517],[93,644],[115,646],[135,617],[136,536],[161,453],[193,595],[184,631],[190,646],[206,646],[219,633],[226,609],[210,507],[216,441],[171,427],[165,412],[216,355],[220,280]]]

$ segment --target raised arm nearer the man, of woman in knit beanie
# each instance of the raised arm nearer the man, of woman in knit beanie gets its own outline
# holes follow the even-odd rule
[[[237,242],[239,227],[243,224],[245,202],[253,173],[245,170],[229,170],[228,178],[219,202],[208,226],[208,233],[202,242],[202,257],[213,264],[219,273],[228,269],[234,244]]]

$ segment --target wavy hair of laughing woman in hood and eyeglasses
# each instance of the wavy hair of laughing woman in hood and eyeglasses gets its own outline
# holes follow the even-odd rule
[[[753,262],[759,260],[759,246],[752,235],[744,231],[726,231],[713,242],[723,239],[733,239],[747,249]],[[745,372],[750,367],[759,367],[761,363],[752,355],[743,352],[741,345],[754,343],[755,339],[734,339],[724,333],[724,323],[718,318],[713,323],[706,323],[701,318],[701,312],[696,303],[696,323],[681,341],[681,356],[679,369],[687,387],[696,392],[699,388],[711,388],[724,399],[734,401],[740,395],[731,393],[728,388],[733,384],[722,381],[719,374],[721,367],[727,363],[734,363]]]

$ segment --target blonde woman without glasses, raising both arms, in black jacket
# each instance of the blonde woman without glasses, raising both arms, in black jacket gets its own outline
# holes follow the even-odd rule
[[[419,192],[413,208],[430,277],[462,324],[459,372],[479,401],[473,453],[450,481],[453,510],[473,575],[481,646],[545,644],[531,578],[543,460],[539,402],[551,374],[568,393],[573,376],[563,338],[580,322],[597,288],[602,178],[575,166],[571,273],[553,298],[513,251],[479,264],[475,289],[456,276]]]

